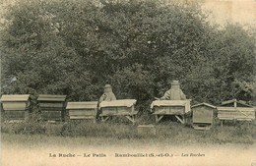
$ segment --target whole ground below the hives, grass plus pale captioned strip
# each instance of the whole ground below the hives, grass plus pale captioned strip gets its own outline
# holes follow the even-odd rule
[[[1,124],[1,166],[17,165],[251,165],[256,161],[253,123],[217,124],[210,131],[162,122],[157,135],[139,135],[137,126],[73,122]],[[59,154],[76,157],[58,157]],[[162,154],[172,157],[116,157],[118,154]],[[193,156],[194,154],[204,156]],[[57,157],[50,157],[56,154]],[[84,157],[104,154],[105,157]],[[192,157],[190,156],[191,154]],[[188,155],[188,156],[182,156]]]

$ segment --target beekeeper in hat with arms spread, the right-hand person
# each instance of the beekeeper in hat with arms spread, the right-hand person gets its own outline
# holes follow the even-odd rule
[[[160,100],[185,100],[186,95],[180,89],[178,81],[173,81],[171,83],[171,88],[167,90]]]

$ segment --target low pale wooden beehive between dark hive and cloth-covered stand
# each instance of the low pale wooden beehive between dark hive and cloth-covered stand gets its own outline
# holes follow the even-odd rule
[[[68,102],[66,110],[70,120],[96,119],[97,101]]]

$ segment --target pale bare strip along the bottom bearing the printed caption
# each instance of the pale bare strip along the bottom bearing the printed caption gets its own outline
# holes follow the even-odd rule
[[[27,138],[27,139],[26,139]],[[56,157],[54,157],[54,154]],[[67,155],[67,157],[64,157]],[[144,139],[2,137],[2,166],[230,165],[256,163],[256,144],[168,144]]]

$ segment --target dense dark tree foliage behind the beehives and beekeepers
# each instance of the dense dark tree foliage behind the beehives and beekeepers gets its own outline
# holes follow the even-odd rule
[[[27,0],[2,28],[4,93],[67,94],[97,100],[105,83],[117,98],[149,107],[179,80],[196,102],[255,100],[255,34],[210,25],[200,7],[151,0]]]

